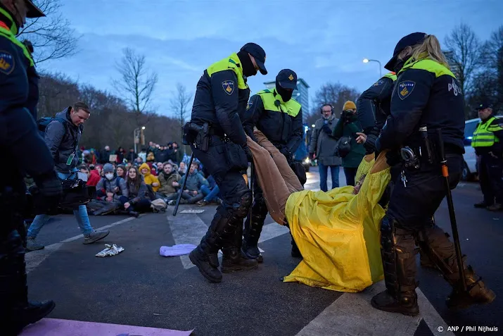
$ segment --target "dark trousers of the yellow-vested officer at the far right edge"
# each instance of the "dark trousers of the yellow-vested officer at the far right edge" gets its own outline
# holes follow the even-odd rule
[[[490,206],[495,203],[503,204],[503,159],[490,154],[478,157],[478,179],[480,189],[484,195],[484,203]]]

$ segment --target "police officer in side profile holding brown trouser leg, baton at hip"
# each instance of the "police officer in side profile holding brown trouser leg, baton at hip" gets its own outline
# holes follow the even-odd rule
[[[184,127],[186,141],[196,158],[215,178],[222,204],[189,258],[210,282],[222,281],[217,252],[222,248],[222,272],[248,270],[256,260],[243,259],[239,251],[243,218],[252,203],[251,190],[242,171],[252,154],[239,118],[246,109],[250,89],[246,77],[267,74],[265,51],[255,43],[245,44],[236,54],[213,63],[200,80],[194,98],[191,122]],[[236,234],[236,230],[240,230]]]

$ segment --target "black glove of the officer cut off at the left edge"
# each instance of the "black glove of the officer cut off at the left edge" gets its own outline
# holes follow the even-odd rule
[[[55,172],[34,178],[34,180],[38,189],[33,195],[35,214],[58,214],[58,205],[61,196],[63,196],[61,180],[58,179]]]

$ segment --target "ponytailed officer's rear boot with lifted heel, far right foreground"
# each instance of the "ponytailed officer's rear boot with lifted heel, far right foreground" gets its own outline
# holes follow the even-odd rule
[[[446,304],[450,309],[464,309],[473,304],[489,304],[494,301],[496,294],[485,287],[482,278],[473,271],[471,266],[466,266],[466,256],[462,258],[466,291],[463,290],[459,280],[459,267],[454,244],[449,240],[449,235],[436,225],[426,228],[419,235],[419,247],[428,255],[428,258],[442,272],[453,290],[447,297]]]

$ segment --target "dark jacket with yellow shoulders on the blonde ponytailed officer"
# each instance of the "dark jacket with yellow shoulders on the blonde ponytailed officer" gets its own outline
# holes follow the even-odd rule
[[[435,141],[442,129],[446,151],[464,153],[464,102],[456,77],[445,66],[422,58],[400,70],[391,97],[391,115],[376,141],[376,148],[397,149],[423,145],[419,127],[428,127]],[[457,148],[457,149],[456,149]]]

